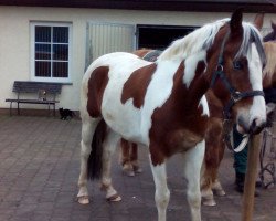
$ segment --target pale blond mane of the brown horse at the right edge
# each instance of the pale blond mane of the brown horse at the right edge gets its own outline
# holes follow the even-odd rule
[[[266,54],[266,65],[263,73],[264,77],[270,80],[276,72],[276,42],[265,42],[264,49]]]

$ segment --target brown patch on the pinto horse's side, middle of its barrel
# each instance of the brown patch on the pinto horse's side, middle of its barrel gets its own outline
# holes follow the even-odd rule
[[[151,81],[151,76],[157,69],[157,64],[140,67],[136,70],[130,77],[125,82],[121,93],[121,104],[134,98],[134,106],[140,108],[144,105],[144,98]],[[139,88],[139,90],[137,90]]]

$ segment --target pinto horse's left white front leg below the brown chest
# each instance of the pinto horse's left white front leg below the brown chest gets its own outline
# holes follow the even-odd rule
[[[170,200],[170,191],[167,186],[166,162],[153,166],[150,157],[150,166],[156,185],[155,200],[158,210],[158,221],[166,221],[167,207]]]

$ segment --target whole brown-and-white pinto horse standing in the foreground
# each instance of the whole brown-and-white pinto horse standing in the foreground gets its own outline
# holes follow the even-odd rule
[[[100,178],[106,198],[120,199],[112,183],[110,156],[114,140],[123,137],[149,149],[158,221],[166,221],[170,198],[166,161],[176,154],[183,157],[191,220],[200,221],[200,170],[209,120],[204,94],[212,86],[224,105],[231,96],[243,95],[229,114],[240,133],[259,133],[266,122],[264,63],[259,32],[242,22],[241,10],[174,41],[155,63],[123,52],[94,61],[81,94],[78,202],[89,202],[87,178]],[[102,129],[95,133],[96,127]]]

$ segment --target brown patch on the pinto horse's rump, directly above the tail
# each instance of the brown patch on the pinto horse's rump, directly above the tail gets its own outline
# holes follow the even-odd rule
[[[88,81],[87,112],[91,117],[99,117],[104,91],[108,83],[108,66],[99,66],[93,71]]]

